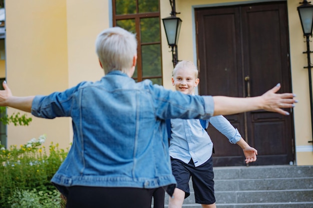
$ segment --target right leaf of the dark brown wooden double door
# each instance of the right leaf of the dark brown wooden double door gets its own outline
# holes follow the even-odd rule
[[[242,6],[241,22],[243,68],[244,76],[250,78],[250,95],[261,95],[277,83],[281,84],[279,93],[290,92],[285,3]],[[252,165],[280,165],[293,161],[292,116],[265,111],[246,115],[247,141],[259,153]]]

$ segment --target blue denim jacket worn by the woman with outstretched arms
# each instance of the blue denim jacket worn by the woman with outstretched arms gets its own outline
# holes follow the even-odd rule
[[[213,105],[211,96],[183,95],[111,71],[97,82],[35,96],[31,113],[72,118],[72,146],[51,179],[66,195],[70,186],[175,185],[164,120],[208,119]]]

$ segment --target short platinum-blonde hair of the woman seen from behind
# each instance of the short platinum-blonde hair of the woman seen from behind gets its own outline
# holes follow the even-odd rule
[[[105,29],[96,38],[95,51],[105,74],[112,70],[127,73],[137,54],[135,34],[120,27]]]

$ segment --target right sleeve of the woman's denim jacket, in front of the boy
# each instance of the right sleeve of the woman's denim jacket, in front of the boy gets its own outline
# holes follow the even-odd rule
[[[151,93],[156,117],[160,119],[208,119],[213,115],[212,96],[185,95],[151,84],[147,84],[146,87]]]

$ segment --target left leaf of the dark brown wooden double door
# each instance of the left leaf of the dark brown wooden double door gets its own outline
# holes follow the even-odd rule
[[[209,10],[209,11],[208,11]],[[196,11],[198,25],[199,93],[243,97],[240,47],[240,15],[236,7]],[[225,116],[244,133],[244,114]],[[215,166],[244,165],[241,148],[228,142],[214,127],[208,127],[214,144]]]

